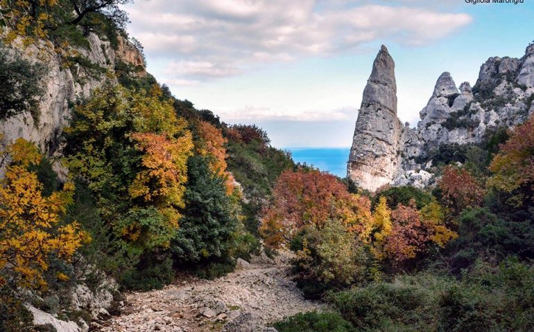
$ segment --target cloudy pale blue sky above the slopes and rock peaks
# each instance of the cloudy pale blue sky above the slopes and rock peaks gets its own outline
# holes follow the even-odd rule
[[[135,0],[130,37],[176,98],[275,147],[348,147],[381,44],[398,111],[415,127],[439,75],[476,82],[488,57],[522,57],[534,0]]]

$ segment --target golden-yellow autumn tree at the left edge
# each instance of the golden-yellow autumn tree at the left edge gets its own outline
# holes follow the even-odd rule
[[[28,167],[40,163],[35,145],[19,138],[1,154],[10,159],[0,186],[0,285],[43,288],[52,256],[69,261],[90,240],[78,223],[62,223],[74,185],[43,196],[42,183]],[[64,278],[64,275],[58,275]]]

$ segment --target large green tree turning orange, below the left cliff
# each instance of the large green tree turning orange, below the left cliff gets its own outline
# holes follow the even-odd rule
[[[132,93],[108,84],[74,108],[67,165],[132,249],[167,247],[178,230],[193,147],[186,126],[157,86]]]

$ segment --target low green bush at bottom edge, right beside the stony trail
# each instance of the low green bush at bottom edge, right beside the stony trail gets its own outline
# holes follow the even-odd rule
[[[274,324],[278,332],[356,332],[338,313],[298,313]]]

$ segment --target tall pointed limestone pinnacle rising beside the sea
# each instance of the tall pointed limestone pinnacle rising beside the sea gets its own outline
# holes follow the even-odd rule
[[[397,119],[395,62],[382,46],[363,91],[347,173],[368,190],[391,181],[399,169],[402,124]]]

